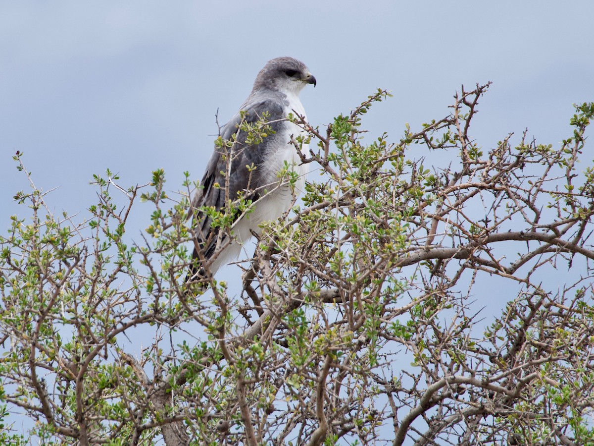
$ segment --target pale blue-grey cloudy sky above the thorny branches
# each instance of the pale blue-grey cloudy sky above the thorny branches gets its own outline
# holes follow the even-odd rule
[[[38,186],[59,187],[50,205],[81,216],[92,174],[108,167],[124,186],[155,168],[172,190],[185,170],[200,178],[217,109],[225,123],[281,55],[318,80],[302,93],[314,125],[382,87],[394,98],[364,126],[396,140],[407,122],[444,117],[460,84],[491,80],[479,143],[528,127],[555,144],[570,135],[571,103],[594,100],[592,17],[589,1],[0,1],[0,228],[25,211],[12,201],[27,188],[16,150]],[[443,163],[434,156],[425,164]],[[137,209],[133,238],[150,211]]]

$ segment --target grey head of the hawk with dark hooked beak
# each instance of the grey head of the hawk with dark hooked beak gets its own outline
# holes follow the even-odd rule
[[[292,57],[277,57],[268,61],[254,82],[256,90],[270,89],[298,95],[306,84],[314,84],[315,77],[303,62]]]

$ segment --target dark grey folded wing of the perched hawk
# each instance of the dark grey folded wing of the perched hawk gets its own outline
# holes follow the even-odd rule
[[[247,123],[255,123],[261,119],[264,112],[268,112],[268,121],[275,133],[269,134],[258,145],[248,145],[246,143],[247,132],[239,131],[238,125],[242,122],[242,117],[238,113],[232,120],[225,124],[220,131],[220,136],[224,140],[232,139],[236,133],[236,142],[231,147],[232,169],[229,175],[229,196],[231,200],[235,200],[239,193],[244,193],[245,197],[251,200],[258,199],[258,192],[266,186],[264,180],[260,179],[259,172],[262,171],[262,163],[266,157],[267,152],[274,148],[278,143],[278,136],[281,133],[285,123],[282,121],[286,118],[284,114],[284,101],[280,97],[272,96],[267,98],[254,98],[244,104],[242,110],[246,111],[243,121]],[[224,149],[223,149],[224,150]],[[192,209],[200,208],[201,206],[211,206],[217,211],[225,207],[227,201],[226,194],[226,170],[227,157],[223,156],[222,149],[215,148],[213,155],[208,161],[206,172],[200,182],[200,189],[198,189],[194,198],[192,199]],[[255,171],[249,172],[247,166],[254,165]],[[217,187],[216,184],[219,184]],[[235,215],[235,218],[239,216]],[[198,243],[204,250],[204,257],[208,259],[213,255],[216,246],[216,230],[211,228],[211,219],[204,215],[203,212],[197,211],[196,218],[198,219],[196,235]],[[192,259],[197,259],[198,253],[194,249]],[[195,272],[195,271],[192,271]]]

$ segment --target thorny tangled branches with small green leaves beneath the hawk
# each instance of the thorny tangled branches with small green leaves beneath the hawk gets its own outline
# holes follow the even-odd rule
[[[579,164],[594,103],[576,105],[560,145],[479,143],[487,89],[396,140],[363,127],[385,90],[326,127],[290,116],[309,133],[305,194],[266,224],[236,284],[206,291],[185,283],[189,173],[179,193],[163,171],[131,188],[95,175],[81,220],[50,211],[17,153],[31,187],[0,237],[0,439],[594,442],[594,170]],[[153,208],[142,235],[138,206]],[[201,211],[232,234],[230,213]]]

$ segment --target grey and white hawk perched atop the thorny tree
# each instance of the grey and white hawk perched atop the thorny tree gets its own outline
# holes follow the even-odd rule
[[[315,77],[302,62],[291,57],[268,61],[237,114],[220,128],[220,137],[233,143],[230,147],[215,147],[192,199],[192,209],[207,206],[227,212],[228,200],[233,201],[239,196],[252,200],[252,209],[246,215],[237,209],[230,210],[235,219],[230,239],[225,234],[219,236],[205,212],[195,212],[197,243],[187,282],[204,282],[205,271],[215,274],[221,266],[236,259],[252,232],[259,235],[262,222],[273,221],[288,211],[293,203],[293,193],[299,193],[304,187],[308,168],[301,164],[291,142],[292,136],[304,134],[304,130],[287,120],[287,116],[292,113],[305,118],[299,92],[307,84],[315,87]],[[267,136],[261,140],[251,139],[249,131],[239,128],[261,123],[263,117],[272,131],[266,132]],[[307,145],[303,144],[301,150],[307,152]],[[287,164],[298,176],[294,191],[287,181],[279,180],[279,172]],[[217,255],[213,257],[215,253]]]

